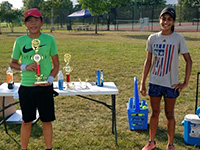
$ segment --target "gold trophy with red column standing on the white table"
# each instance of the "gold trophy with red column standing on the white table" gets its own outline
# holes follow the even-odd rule
[[[63,67],[65,73],[66,73],[66,81],[67,81],[67,87],[69,88],[69,83],[70,83],[70,73],[72,72],[73,68],[69,65],[71,59],[70,54],[65,54],[64,55],[64,61],[66,65]]]

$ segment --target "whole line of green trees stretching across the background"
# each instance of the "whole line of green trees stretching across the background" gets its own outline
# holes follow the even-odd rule
[[[6,22],[11,32],[14,31],[15,26],[22,25],[24,12],[30,8],[41,10],[46,23],[52,24],[57,20],[61,27],[65,23],[72,23],[67,19],[69,14],[80,9],[88,9],[94,16],[94,24],[97,26],[98,16],[101,14],[109,30],[109,24],[115,23],[116,19],[134,20],[145,16],[152,20],[158,18],[160,10],[164,7],[166,7],[166,0],[79,0],[75,6],[71,0],[23,0],[21,9],[13,9],[12,4],[3,1],[0,3],[0,33],[1,22]],[[200,0],[178,0],[178,4],[172,7],[176,8],[178,21],[199,18]]]

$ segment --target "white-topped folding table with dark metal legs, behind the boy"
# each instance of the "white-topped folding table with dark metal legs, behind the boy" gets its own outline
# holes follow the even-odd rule
[[[115,145],[118,145],[117,144],[116,108],[115,107],[116,107],[116,94],[118,94],[119,91],[118,91],[115,83],[113,83],[113,82],[104,82],[103,84],[104,85],[102,87],[99,87],[93,82],[71,82],[70,83],[71,88],[66,89],[66,90],[59,90],[57,82],[54,82],[53,85],[54,85],[54,90],[59,93],[59,96],[73,96],[73,95],[79,96],[84,99],[91,100],[91,101],[100,103],[102,105],[105,105],[108,109],[112,110],[112,133],[115,134]],[[14,96],[15,98],[17,98],[19,86],[20,86],[20,83],[15,83],[14,88],[9,90],[7,88],[7,83],[3,83],[2,85],[0,85],[0,96],[2,96],[2,101],[3,101],[2,109],[0,109],[0,112],[3,112],[3,119],[1,120],[0,125],[4,124],[6,133],[8,133],[8,131],[7,131],[7,126],[6,126],[7,118],[5,117],[5,110],[7,108],[9,108],[10,106],[13,106],[13,105],[19,103],[19,101],[12,103],[8,106],[5,106],[5,100],[6,100],[5,97],[6,96]],[[86,97],[86,95],[87,95],[87,97]],[[111,103],[112,104],[109,105],[103,101],[92,99],[92,98],[88,97],[89,95],[111,95]]]

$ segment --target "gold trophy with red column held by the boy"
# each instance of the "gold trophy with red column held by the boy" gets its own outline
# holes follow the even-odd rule
[[[37,81],[35,82],[35,84],[45,84],[45,83],[47,83],[47,81],[43,81],[46,79],[43,77],[43,74],[40,73],[40,61],[43,57],[40,56],[40,54],[38,53],[39,47],[40,47],[40,40],[33,39],[32,40],[32,49],[35,51],[35,55],[32,57],[32,59],[37,63],[37,69],[36,69],[36,75],[35,75]]]

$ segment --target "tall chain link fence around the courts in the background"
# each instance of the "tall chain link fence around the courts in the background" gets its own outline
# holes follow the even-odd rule
[[[175,31],[199,31],[199,6],[169,5],[176,10]],[[98,30],[159,31],[159,15],[166,5],[134,5],[113,8],[110,13],[98,18]],[[55,29],[94,30],[94,17],[68,19],[58,16]],[[45,18],[44,28],[51,28],[50,19]]]

